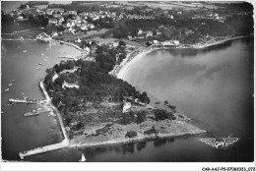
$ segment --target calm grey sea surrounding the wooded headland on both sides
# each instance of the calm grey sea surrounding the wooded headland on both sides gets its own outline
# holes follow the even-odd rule
[[[4,44],[7,51],[2,58],[2,108],[9,97],[20,97],[21,92],[26,92],[28,97],[41,98],[37,84],[47,67],[34,69],[37,63],[44,62],[40,54],[52,53],[48,54],[52,59],[51,63],[48,62],[50,67],[59,60],[54,55],[70,52],[67,48],[71,48],[56,45],[54,51],[47,51],[46,48],[50,48],[47,44],[8,41]],[[23,45],[23,48],[19,50],[18,45]],[[27,54],[22,53],[24,48],[28,49]],[[210,132],[207,137],[240,139],[228,149],[210,147],[199,141],[201,137],[184,137],[174,142],[64,148],[25,160],[77,162],[84,152],[87,161],[92,162],[253,161],[253,51],[251,39],[239,39],[212,50],[197,52],[158,50],[142,57],[125,77],[133,86],[146,90],[153,105],[156,101],[168,100],[178,111],[195,119],[195,124]],[[19,79],[14,85],[18,87],[10,86],[10,90],[4,92],[3,88],[13,79]],[[17,151],[60,140],[60,135],[50,130],[56,126],[54,118],[47,117],[47,114],[39,115],[37,119],[25,118],[26,108],[32,107],[4,106],[2,148],[3,157],[7,159],[19,159]]]

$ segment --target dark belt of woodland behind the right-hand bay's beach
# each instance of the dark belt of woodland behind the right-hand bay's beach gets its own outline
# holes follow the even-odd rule
[[[204,25],[202,25],[202,23]],[[196,38],[198,35],[213,35],[213,36],[225,36],[225,35],[247,35],[253,32],[253,18],[251,15],[233,15],[226,18],[224,23],[207,19],[195,19],[180,18],[172,20],[165,17],[158,17],[156,19],[148,20],[126,20],[123,23],[119,23],[115,26],[113,33],[115,37],[123,38],[127,35],[137,35],[139,29],[143,30],[156,30],[160,29],[160,26],[167,28],[167,31],[162,31],[164,38],[175,38],[177,35],[181,35],[184,38]],[[171,28],[171,29],[170,29]],[[193,34],[184,34],[184,29],[193,30]],[[190,36],[190,37],[188,37]],[[192,37],[191,37],[192,36]]]

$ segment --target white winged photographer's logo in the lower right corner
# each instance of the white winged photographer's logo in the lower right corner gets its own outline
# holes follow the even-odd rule
[[[203,143],[206,143],[212,147],[226,149],[236,143],[238,138],[220,138],[220,139],[200,139]]]

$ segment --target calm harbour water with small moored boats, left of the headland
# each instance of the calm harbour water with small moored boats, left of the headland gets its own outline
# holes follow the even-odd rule
[[[45,110],[43,107],[26,104],[10,106],[8,99],[23,99],[24,96],[44,99],[38,83],[44,78],[45,70],[63,60],[59,56],[78,55],[79,52],[67,45],[43,44],[34,40],[5,40],[1,49],[2,155],[3,159],[18,160],[20,151],[59,143],[62,139],[58,123],[49,113],[24,116],[36,108]],[[16,82],[9,86],[13,80]]]

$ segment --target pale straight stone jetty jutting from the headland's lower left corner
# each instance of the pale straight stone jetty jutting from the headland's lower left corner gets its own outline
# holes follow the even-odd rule
[[[68,140],[65,139],[61,143],[54,143],[54,144],[50,144],[50,145],[37,147],[37,148],[31,149],[31,150],[28,150],[28,151],[20,152],[19,155],[20,155],[21,159],[24,159],[26,156],[32,156],[34,154],[39,154],[39,153],[44,153],[44,152],[64,148],[68,144],[69,144]]]

